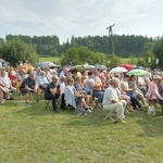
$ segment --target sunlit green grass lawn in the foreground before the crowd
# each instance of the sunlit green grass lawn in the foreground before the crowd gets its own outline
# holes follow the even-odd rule
[[[46,102],[0,104],[1,163],[161,163],[163,117],[147,112],[130,113],[127,124],[103,121],[95,109],[87,116],[73,111],[54,114]]]

